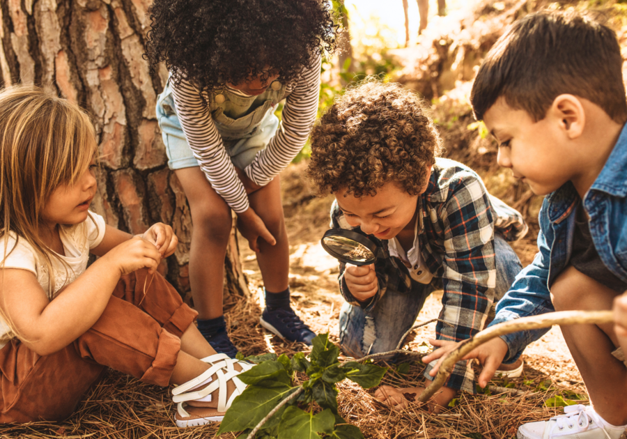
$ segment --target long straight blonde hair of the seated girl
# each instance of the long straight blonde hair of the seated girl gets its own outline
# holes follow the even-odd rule
[[[0,91],[0,239],[4,240],[0,269],[15,249],[7,248],[13,232],[18,241],[33,247],[52,273],[52,259],[61,258],[41,238],[42,210],[57,187],[75,184],[96,157],[93,125],[78,105],[37,86]],[[52,291],[48,295],[52,297]],[[1,309],[0,314],[12,327]]]

